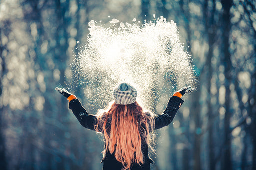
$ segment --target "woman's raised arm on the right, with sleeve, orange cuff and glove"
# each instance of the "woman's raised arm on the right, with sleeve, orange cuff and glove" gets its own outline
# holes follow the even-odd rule
[[[188,92],[195,91],[195,88],[183,87],[179,91],[175,92],[172,97],[170,97],[167,107],[162,114],[157,114],[154,118],[155,120],[155,129],[162,128],[169,125],[174,119],[178,109],[183,104],[184,100],[181,97]]]

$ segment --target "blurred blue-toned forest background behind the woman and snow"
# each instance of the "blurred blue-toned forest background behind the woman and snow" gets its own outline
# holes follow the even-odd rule
[[[102,136],[54,89],[71,82],[90,20],[153,14],[177,23],[198,85],[157,131],[151,169],[256,170],[255,0],[0,0],[1,170],[102,168]],[[85,106],[83,88],[71,92]]]

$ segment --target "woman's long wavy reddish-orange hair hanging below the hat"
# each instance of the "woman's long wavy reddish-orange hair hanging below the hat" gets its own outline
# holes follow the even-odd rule
[[[137,103],[119,105],[113,102],[107,110],[98,112],[97,132],[104,133],[105,156],[108,150],[123,165],[122,170],[130,169],[132,163],[139,165],[145,162],[141,142],[150,146],[150,132],[154,128],[153,115],[144,112]],[[151,147],[152,148],[152,147]]]

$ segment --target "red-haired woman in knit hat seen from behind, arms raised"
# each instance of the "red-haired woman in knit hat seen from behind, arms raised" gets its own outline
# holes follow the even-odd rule
[[[163,113],[156,115],[143,111],[136,102],[137,91],[129,83],[117,85],[114,101],[97,115],[89,114],[67,90],[56,90],[69,100],[69,109],[82,126],[104,134],[103,170],[150,170],[150,132],[169,125],[184,102],[182,95],[195,89],[189,86],[175,92]]]

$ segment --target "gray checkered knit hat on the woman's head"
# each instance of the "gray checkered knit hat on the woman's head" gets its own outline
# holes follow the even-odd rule
[[[137,97],[137,90],[129,83],[120,83],[114,89],[114,101],[120,105],[134,103]]]

